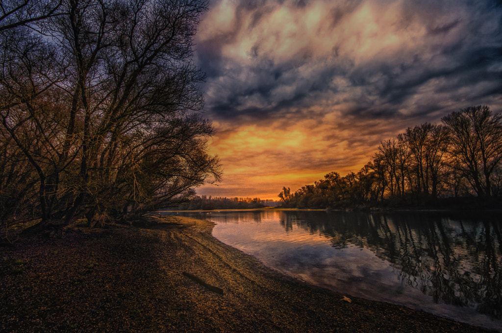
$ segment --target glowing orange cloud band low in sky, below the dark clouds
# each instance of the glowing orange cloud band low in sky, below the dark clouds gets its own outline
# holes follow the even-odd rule
[[[379,124],[379,130],[371,133],[374,123],[357,123],[356,119],[344,123],[337,112],[328,113],[322,123],[276,120],[232,130],[215,124],[219,131],[210,147],[211,153],[220,156],[223,181],[218,186],[201,187],[197,193],[274,200],[283,186],[296,191],[332,171],[343,176],[359,171],[385,131],[385,125]],[[359,133],[354,132],[357,129]]]

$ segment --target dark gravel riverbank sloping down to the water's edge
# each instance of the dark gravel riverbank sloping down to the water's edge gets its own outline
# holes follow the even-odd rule
[[[212,227],[176,217],[20,236],[0,248],[0,331],[487,331],[285,277]]]

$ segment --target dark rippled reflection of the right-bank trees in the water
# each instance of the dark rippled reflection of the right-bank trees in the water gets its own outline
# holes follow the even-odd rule
[[[436,303],[502,318],[500,217],[444,213],[283,211],[281,225],[327,237],[335,248],[369,248]]]

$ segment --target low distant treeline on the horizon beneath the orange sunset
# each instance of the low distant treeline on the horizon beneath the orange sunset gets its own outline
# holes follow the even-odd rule
[[[265,206],[277,206],[273,200],[261,200],[260,198],[226,198],[195,196],[189,202],[179,206],[180,210],[213,210],[213,209],[252,209]]]

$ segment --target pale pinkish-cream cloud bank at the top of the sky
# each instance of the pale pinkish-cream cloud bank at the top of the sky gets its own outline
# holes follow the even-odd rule
[[[238,4],[219,2],[202,22],[198,39],[231,33],[233,42],[226,43],[222,53],[240,63],[263,57],[283,62],[302,54],[317,58],[336,54],[359,64],[398,53],[405,58],[417,50],[434,54],[434,48],[424,45],[430,43],[428,25],[434,23],[417,18],[415,9],[403,1],[356,2],[355,6],[311,1],[305,7],[286,1],[265,5],[259,19],[255,9],[245,11]]]

